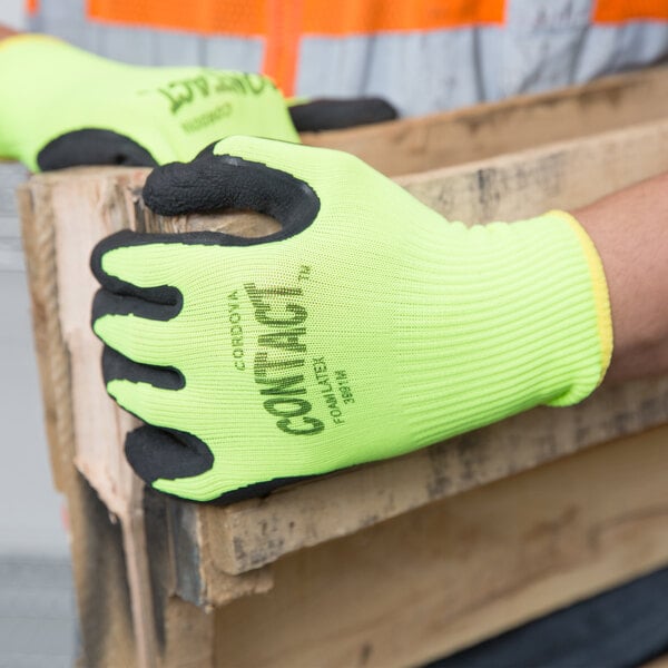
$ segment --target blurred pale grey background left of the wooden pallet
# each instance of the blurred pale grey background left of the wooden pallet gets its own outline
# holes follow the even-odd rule
[[[24,27],[23,0],[0,0],[0,23]],[[71,666],[75,601],[61,499],[53,490],[33,354],[30,301],[13,190],[0,163],[0,666]]]

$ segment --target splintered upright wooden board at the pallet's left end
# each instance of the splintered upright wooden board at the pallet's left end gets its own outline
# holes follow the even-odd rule
[[[117,518],[117,530],[122,536],[118,544],[125,550],[122,579],[120,582],[118,579],[112,581],[112,586],[128,591],[132,623],[125,615],[125,622],[131,632],[131,646],[129,640],[126,645],[135,648],[132,655],[137,657],[137,665],[145,667],[153,665],[156,647],[149,564],[139,508],[143,484],[127,465],[120,464],[117,451],[122,434],[134,424],[134,419],[109,406],[107,397],[92,390],[102,382],[99,363],[101,345],[90,336],[87,315],[96,289],[88,269],[88,257],[92,244],[99,238],[95,236],[95,226],[86,224],[97,213],[90,207],[106,203],[107,215],[100,216],[100,225],[107,234],[127,226],[124,218],[126,208],[119,205],[118,197],[127,190],[136,173],[126,170],[125,175],[120,171],[115,174],[118,180],[94,184],[92,198],[87,198],[82,191],[87,187],[85,170],[72,173],[71,188],[53,187],[57,183],[63,183],[62,177],[45,175],[39,183],[31,183],[19,190],[19,207],[47,436],[56,484],[68,500],[76,537],[72,552],[81,619],[90,617],[91,623],[95,621],[90,609],[106,605],[101,600],[106,598],[106,589],[90,577],[87,554],[82,557],[84,563],[77,560],[77,550],[80,551],[89,541],[94,546],[97,543],[96,532],[87,522],[91,502],[79,501],[81,483],[73,462],[98,494],[100,489],[105,489],[104,483],[112,480],[106,494],[100,494],[102,508]],[[98,228],[97,234],[101,234],[101,227]],[[85,453],[82,458],[79,456],[81,451]],[[107,455],[112,453],[112,456],[102,460],[100,452]],[[117,608],[115,615],[119,613]],[[101,639],[106,641],[107,636],[98,631],[99,638],[89,635],[87,651],[107,657],[108,649],[101,645]],[[99,665],[110,664],[100,660]]]

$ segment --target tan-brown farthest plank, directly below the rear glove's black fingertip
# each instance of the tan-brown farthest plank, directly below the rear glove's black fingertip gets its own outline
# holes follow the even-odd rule
[[[541,95],[302,138],[306,144],[355,154],[384,174],[396,176],[660,120],[667,115],[668,68],[662,67]]]

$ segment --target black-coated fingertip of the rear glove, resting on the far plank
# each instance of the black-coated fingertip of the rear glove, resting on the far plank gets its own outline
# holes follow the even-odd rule
[[[382,98],[316,99],[289,108],[299,132],[340,130],[374,122],[394,120],[396,109]]]

